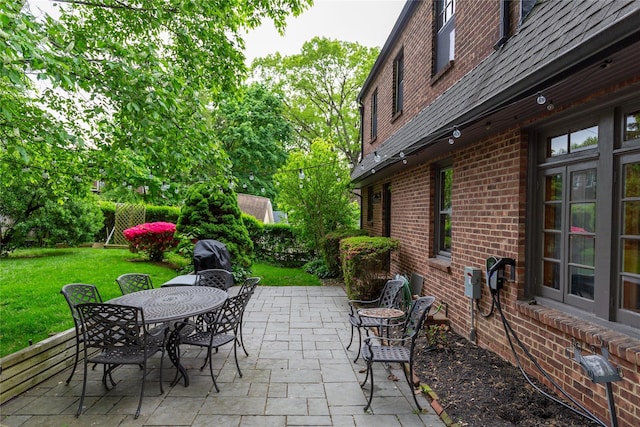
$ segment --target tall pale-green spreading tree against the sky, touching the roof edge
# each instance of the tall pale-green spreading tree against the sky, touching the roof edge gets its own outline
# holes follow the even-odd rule
[[[298,148],[315,139],[330,141],[355,165],[360,152],[358,93],[378,48],[314,37],[297,55],[256,59],[254,74],[282,94]]]

